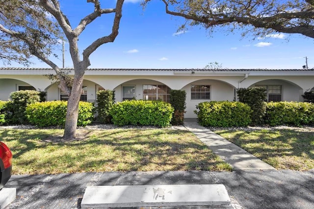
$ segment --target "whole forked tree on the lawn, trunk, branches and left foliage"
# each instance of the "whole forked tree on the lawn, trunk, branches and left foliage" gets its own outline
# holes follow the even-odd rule
[[[118,35],[124,0],[116,0],[115,8],[102,8],[100,0],[86,0],[94,9],[82,17],[78,26],[73,28],[70,20],[62,11],[58,0],[0,0],[0,59],[6,63],[16,61],[29,64],[28,58],[36,56],[48,64],[60,80],[59,88],[68,93],[68,107],[63,137],[76,136],[78,102],[82,93],[85,70],[90,66],[89,56],[99,46],[113,42]],[[109,34],[100,34],[82,52],[78,49],[78,37],[84,29],[97,18],[114,13]],[[58,42],[66,39],[74,66],[73,85],[69,87],[64,71],[50,57]]]

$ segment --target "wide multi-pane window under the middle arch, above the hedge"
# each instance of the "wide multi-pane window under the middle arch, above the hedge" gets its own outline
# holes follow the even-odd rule
[[[166,85],[143,85],[143,99],[170,102],[170,88]]]

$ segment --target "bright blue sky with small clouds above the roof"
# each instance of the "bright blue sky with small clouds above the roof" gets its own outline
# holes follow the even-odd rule
[[[72,26],[93,11],[86,0],[61,0],[61,7]],[[101,0],[102,7],[113,8],[115,0]],[[88,25],[79,37],[82,51],[95,39],[110,33],[114,14],[104,15]],[[308,57],[314,68],[314,40],[293,34],[273,34],[265,39],[241,37],[240,31],[228,33],[217,28],[209,35],[201,26],[187,28],[176,35],[183,18],[165,14],[164,5],[153,0],[145,10],[138,0],[126,0],[119,35],[114,43],[99,47],[91,56],[89,68],[190,69],[218,62],[228,69],[301,69]],[[288,38],[289,40],[287,41]],[[62,67],[62,46],[53,61]],[[73,67],[65,45],[65,67]],[[35,65],[49,66],[33,59]],[[11,67],[21,67],[12,63]]]

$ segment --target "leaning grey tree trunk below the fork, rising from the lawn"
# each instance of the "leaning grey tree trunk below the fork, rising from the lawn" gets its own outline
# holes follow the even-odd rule
[[[82,93],[84,79],[84,70],[75,70],[74,82],[71,94],[68,99],[67,115],[65,118],[65,127],[63,139],[75,139],[78,124],[78,104]]]

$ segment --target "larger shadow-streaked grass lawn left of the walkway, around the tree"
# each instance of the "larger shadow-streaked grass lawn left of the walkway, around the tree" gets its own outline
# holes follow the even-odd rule
[[[212,170],[232,167],[192,133],[171,129],[79,129],[62,141],[59,129],[0,129],[13,153],[13,174],[102,171]]]

